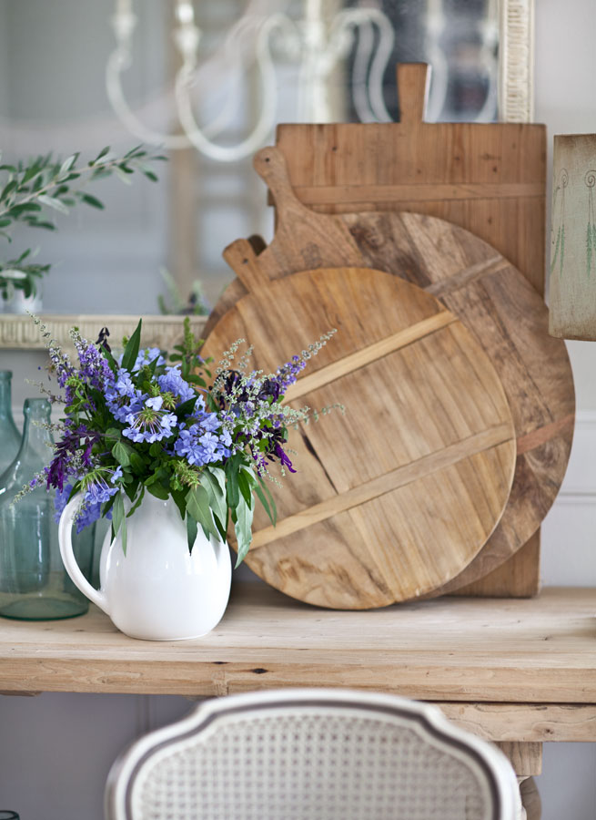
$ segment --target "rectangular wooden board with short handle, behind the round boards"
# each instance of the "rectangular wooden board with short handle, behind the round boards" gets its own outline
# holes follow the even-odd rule
[[[399,122],[280,125],[304,204],[326,213],[413,211],[476,234],[544,293],[546,127],[424,122],[428,67],[398,67]],[[539,589],[540,533],[465,594]]]

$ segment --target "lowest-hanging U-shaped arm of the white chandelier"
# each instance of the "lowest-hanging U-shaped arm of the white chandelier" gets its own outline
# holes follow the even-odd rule
[[[234,146],[221,146],[206,137],[203,129],[198,127],[193,114],[189,87],[192,83],[192,73],[188,66],[183,66],[177,73],[175,92],[178,108],[178,118],[184,128],[187,138],[205,156],[219,162],[234,162],[244,159],[262,146],[275,121],[277,103],[277,87],[275,68],[269,51],[269,36],[274,28],[282,24],[284,15],[273,15],[261,26],[257,40],[257,65],[261,78],[262,106],[257,125],[242,142]]]

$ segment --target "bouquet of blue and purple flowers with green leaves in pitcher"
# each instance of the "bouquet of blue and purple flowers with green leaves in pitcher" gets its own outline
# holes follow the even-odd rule
[[[268,483],[277,479],[270,466],[277,463],[282,476],[295,472],[288,427],[308,421],[309,409],[283,405],[284,394],[335,331],[274,374],[247,370],[251,348],[236,362],[240,339],[211,374],[210,361],[199,354],[202,341],[190,332],[188,320],[183,342],[171,355],[141,349],[141,322],[119,358],[111,352],[106,329],[90,343],[74,328],[78,364],[35,322],[47,340],[50,368],[64,396],[46,392],[52,402],[64,401],[66,416],[56,425],[60,437],[54,457],[31,486],[44,482],[56,488],[58,515],[81,492],[77,527],[100,516],[111,518],[112,538],[120,533],[125,551],[126,518],[146,493],[173,498],[186,521],[189,549],[199,526],[207,538],[226,540],[231,518],[238,565],[250,546],[256,498],[276,523]]]

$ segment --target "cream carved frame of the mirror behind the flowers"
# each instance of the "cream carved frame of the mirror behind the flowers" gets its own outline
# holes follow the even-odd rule
[[[500,95],[501,122],[531,122],[534,114],[534,0],[500,0]],[[143,316],[143,343],[169,350],[180,340],[184,316]],[[134,315],[42,314],[42,321],[56,342],[68,348],[69,331],[76,325],[81,334],[95,339],[99,325],[109,322],[110,333],[120,339],[131,333],[139,317]],[[206,316],[190,316],[194,333],[200,335]],[[28,316],[0,314],[0,349],[45,348]]]

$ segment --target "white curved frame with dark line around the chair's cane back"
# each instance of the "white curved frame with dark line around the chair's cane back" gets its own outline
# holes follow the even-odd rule
[[[275,712],[283,708],[346,709],[377,713],[408,727],[435,746],[464,758],[484,774],[490,792],[492,820],[515,820],[521,804],[517,778],[510,762],[498,748],[450,723],[439,708],[397,695],[358,692],[348,689],[284,689],[247,692],[211,698],[198,704],[186,717],[147,733],[121,753],[112,765],[106,783],[106,820],[135,820],[132,791],[144,764],[167,747],[203,733],[230,714]]]

